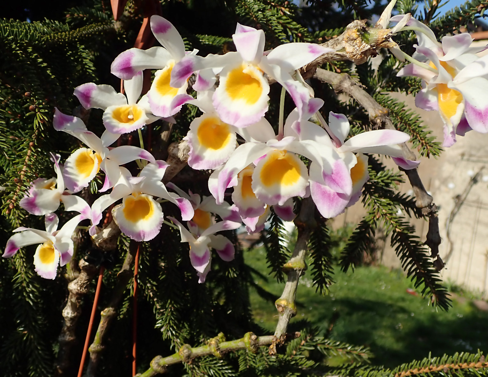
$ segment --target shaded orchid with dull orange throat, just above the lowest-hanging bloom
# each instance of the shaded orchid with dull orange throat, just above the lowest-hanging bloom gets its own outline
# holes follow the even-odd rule
[[[166,188],[176,191],[182,198],[188,199],[193,206],[193,218],[189,220],[186,225],[188,226],[188,229],[197,236],[215,224],[215,218],[212,216],[212,213],[219,215],[222,220],[234,222],[241,221],[241,217],[239,216],[235,205],[230,205],[225,201],[222,204],[217,204],[213,196],[203,196],[202,198],[199,194],[194,194],[191,191],[186,193],[171,182],[166,184]]]

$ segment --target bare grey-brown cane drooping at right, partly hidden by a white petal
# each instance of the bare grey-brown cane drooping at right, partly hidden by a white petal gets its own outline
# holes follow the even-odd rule
[[[356,83],[347,73],[335,73],[325,69],[318,68],[314,77],[324,83],[332,85],[338,93],[346,93],[362,105],[369,114],[369,120],[376,128],[396,129],[391,122],[387,108],[378,104],[366,90]],[[409,160],[415,160],[415,154],[410,150],[406,143],[400,144],[404,155]],[[417,208],[422,210],[424,216],[429,218],[429,231],[427,232],[426,245],[431,249],[431,256],[437,257],[436,269],[443,266],[440,259],[439,245],[441,237],[439,235],[439,220],[437,218],[437,206],[433,203],[433,198],[427,193],[427,190],[419,177],[417,169],[404,170],[416,197]],[[439,267],[437,267],[439,266]],[[442,267],[441,267],[442,269]]]

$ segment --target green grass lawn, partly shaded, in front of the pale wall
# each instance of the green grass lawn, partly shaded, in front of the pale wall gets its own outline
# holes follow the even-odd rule
[[[262,248],[245,252],[245,261],[263,275],[268,275]],[[255,281],[277,297],[284,283],[269,276]],[[407,293],[413,284],[402,271],[385,267],[360,267],[355,272],[335,270],[336,283],[327,296],[315,293],[310,273],[300,278],[297,290],[298,314],[289,331],[299,331],[308,321],[329,337],[355,345],[366,345],[375,355],[373,364],[395,367],[413,359],[488,351],[488,312],[478,310],[469,299],[453,301],[446,313],[432,308],[421,295]],[[251,303],[256,321],[274,332],[277,311],[274,302],[251,289]],[[305,320],[305,321],[304,321]]]

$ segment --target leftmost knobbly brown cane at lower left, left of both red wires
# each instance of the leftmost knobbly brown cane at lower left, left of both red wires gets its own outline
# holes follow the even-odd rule
[[[68,284],[68,300],[62,310],[64,324],[58,338],[60,351],[56,361],[55,376],[66,376],[71,349],[76,344],[76,325],[81,315],[81,298],[88,293],[88,284],[98,272],[97,266],[80,259],[80,274]]]

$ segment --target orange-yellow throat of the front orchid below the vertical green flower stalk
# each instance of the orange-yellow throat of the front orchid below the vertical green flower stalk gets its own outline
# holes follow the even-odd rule
[[[275,150],[265,158],[266,162],[260,174],[264,186],[291,186],[300,180],[302,175],[300,160],[293,153]]]

